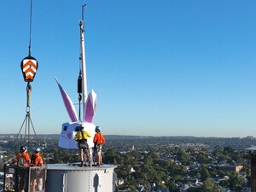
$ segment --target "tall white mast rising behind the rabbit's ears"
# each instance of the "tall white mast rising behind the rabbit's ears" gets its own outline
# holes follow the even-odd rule
[[[79,22],[80,26],[80,49],[81,49],[81,60],[82,60],[82,82],[83,82],[83,111],[85,102],[87,99],[87,78],[86,78],[86,66],[85,66],[85,46],[84,46],[84,7],[86,4],[83,5],[82,10],[82,20]]]

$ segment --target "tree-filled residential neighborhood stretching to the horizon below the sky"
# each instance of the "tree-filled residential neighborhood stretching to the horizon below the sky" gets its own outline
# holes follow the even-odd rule
[[[251,154],[244,148],[256,145],[254,138],[107,136],[106,140],[103,162],[117,166],[116,191],[251,191]],[[59,148],[57,142],[56,137],[40,138],[46,163],[79,160],[78,150]],[[18,152],[19,142],[5,136],[0,144],[3,185],[3,165]]]

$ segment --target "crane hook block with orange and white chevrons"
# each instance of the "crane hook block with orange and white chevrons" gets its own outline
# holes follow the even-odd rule
[[[26,82],[32,82],[38,70],[38,61],[32,56],[26,56],[20,62],[21,72]]]

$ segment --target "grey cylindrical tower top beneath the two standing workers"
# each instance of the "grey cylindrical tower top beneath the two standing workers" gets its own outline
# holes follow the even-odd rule
[[[111,192],[114,191],[116,166],[80,167],[65,164],[47,166],[46,192]]]

